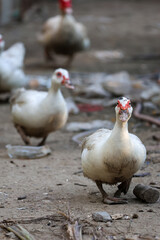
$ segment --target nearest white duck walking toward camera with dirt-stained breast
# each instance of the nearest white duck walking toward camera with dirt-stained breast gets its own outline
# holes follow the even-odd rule
[[[112,130],[99,129],[82,142],[82,169],[85,177],[94,181],[106,204],[127,203],[120,198],[129,190],[133,175],[146,159],[146,148],[141,140],[128,132],[128,120],[133,108],[130,99],[120,97],[115,107],[116,122]],[[114,196],[109,196],[103,184],[118,185]]]

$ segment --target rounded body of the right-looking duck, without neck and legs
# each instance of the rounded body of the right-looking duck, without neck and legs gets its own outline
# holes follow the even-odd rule
[[[55,131],[67,121],[68,111],[63,96],[49,96],[46,92],[26,91],[12,105],[15,124],[29,136],[43,136]]]

